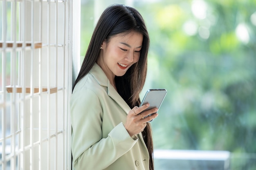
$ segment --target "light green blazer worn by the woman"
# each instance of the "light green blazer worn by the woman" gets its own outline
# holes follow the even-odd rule
[[[130,107],[99,65],[76,84],[70,99],[73,170],[148,170],[141,133],[124,124]]]

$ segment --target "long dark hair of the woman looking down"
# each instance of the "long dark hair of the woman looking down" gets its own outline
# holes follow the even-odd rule
[[[109,41],[111,37],[120,33],[135,31],[143,35],[139,61],[133,64],[123,76],[115,76],[117,92],[133,108],[139,106],[139,94],[144,86],[147,73],[147,56],[149,50],[149,35],[146,24],[136,9],[121,4],[114,4],[103,11],[92,33],[92,38],[85,54],[81,70],[74,83],[76,84],[90,71],[98,60],[100,47],[103,41]],[[150,170],[153,170],[153,140],[150,124],[142,132],[144,141],[150,155]]]

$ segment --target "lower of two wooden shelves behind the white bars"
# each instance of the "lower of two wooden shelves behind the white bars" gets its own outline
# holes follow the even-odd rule
[[[14,86],[6,86],[7,92],[8,93],[13,93],[14,91]],[[30,93],[30,87],[26,87],[25,93]],[[57,93],[58,90],[61,90],[61,88],[58,87],[51,87],[50,88],[50,94],[52,93]],[[39,88],[34,87],[34,93],[38,93]],[[42,92],[47,92],[47,87],[42,88]],[[22,87],[21,86],[16,86],[16,93],[22,93]]]

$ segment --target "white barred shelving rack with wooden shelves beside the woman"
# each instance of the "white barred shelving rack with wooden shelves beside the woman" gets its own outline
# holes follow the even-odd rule
[[[72,47],[80,43],[72,11],[79,7],[72,0],[0,0],[1,170],[71,168],[68,101]]]

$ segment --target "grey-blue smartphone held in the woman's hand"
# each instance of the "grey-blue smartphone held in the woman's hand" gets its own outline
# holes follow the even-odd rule
[[[166,94],[167,94],[167,91],[164,88],[148,89],[148,91],[146,91],[146,94],[145,94],[144,98],[142,99],[139,107],[144,104],[149,103],[150,106],[148,108],[146,108],[145,110],[143,110],[143,112],[146,110],[150,110],[151,108],[159,109]],[[153,114],[155,114],[155,113],[153,113]],[[153,114],[150,114],[150,115],[153,115]],[[148,115],[148,116],[150,116],[150,115]],[[148,116],[146,116],[146,117],[148,117]],[[153,121],[153,119],[150,121]]]

